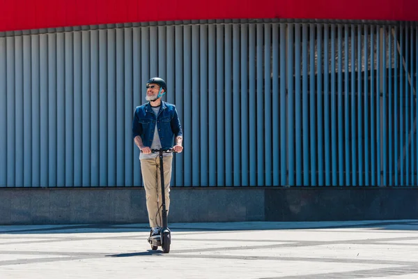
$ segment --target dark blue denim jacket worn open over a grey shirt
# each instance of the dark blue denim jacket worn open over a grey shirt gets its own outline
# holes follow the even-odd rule
[[[183,137],[175,105],[161,101],[158,116],[155,116],[150,102],[137,107],[132,121],[132,137],[141,136],[144,146],[150,147],[153,143],[155,125],[157,125],[162,149],[171,148],[174,137]]]

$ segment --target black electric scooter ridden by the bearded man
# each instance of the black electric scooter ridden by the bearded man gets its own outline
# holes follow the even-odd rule
[[[162,252],[170,252],[171,244],[171,230],[168,226],[167,221],[167,209],[165,204],[165,189],[164,189],[164,165],[163,165],[163,154],[164,153],[176,153],[174,149],[151,149],[152,153],[158,153],[160,157],[160,176],[161,176],[161,202],[162,202],[162,227],[160,227],[160,240],[151,239],[151,234],[148,237],[148,242],[151,245],[151,249],[157,250],[158,246],[161,246]]]

